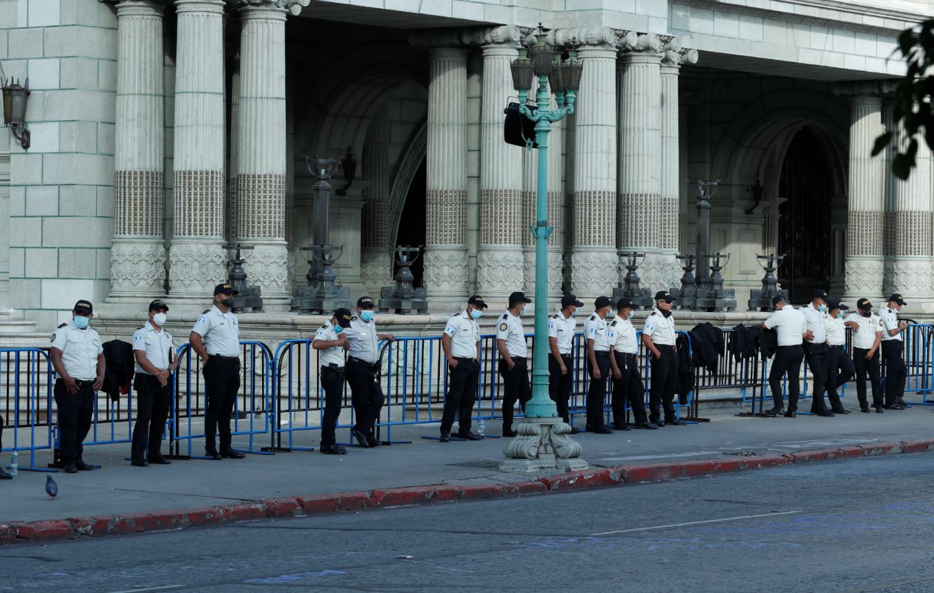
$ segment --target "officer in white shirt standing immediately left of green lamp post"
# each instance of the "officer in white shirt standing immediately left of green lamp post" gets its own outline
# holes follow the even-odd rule
[[[497,320],[496,349],[500,352],[500,376],[502,376],[502,433],[515,436],[513,431],[513,408],[516,402],[525,412],[525,404],[531,400],[529,383],[529,348],[522,327],[522,313],[531,299],[524,292],[509,295],[509,308]]]

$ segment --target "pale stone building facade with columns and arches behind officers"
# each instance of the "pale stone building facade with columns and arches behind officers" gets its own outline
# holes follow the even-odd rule
[[[0,324],[45,332],[80,298],[197,312],[226,277],[289,315],[314,222],[305,157],[338,171],[332,242],[354,298],[424,245],[432,312],[534,284],[533,152],[502,141],[509,64],[539,22],[584,64],[550,138],[549,293],[678,285],[692,183],[718,179],[712,250],[738,295],[786,253],[796,300],[897,290],[934,306],[932,167],[870,157],[892,126],[899,32],[929,1],[0,0],[0,66],[29,78],[22,150],[0,136]],[[8,142],[7,142],[8,141]],[[763,191],[751,191],[757,180]],[[741,304],[744,298],[740,299]],[[921,309],[918,309],[921,310]]]

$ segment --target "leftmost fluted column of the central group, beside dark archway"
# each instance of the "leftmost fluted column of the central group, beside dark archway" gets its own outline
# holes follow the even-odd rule
[[[467,294],[467,49],[430,49],[424,281],[430,306]]]

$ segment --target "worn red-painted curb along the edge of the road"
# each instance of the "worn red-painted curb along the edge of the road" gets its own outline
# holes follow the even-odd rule
[[[934,450],[934,439],[841,446],[757,458],[699,459],[580,470],[523,482],[380,488],[369,491],[264,499],[182,511],[13,521],[0,523],[0,545],[55,542],[166,529],[190,529],[258,519],[354,513],[370,509],[398,508],[437,502],[515,498],[583,488],[626,486],[716,473],[743,472],[828,459],[878,457],[929,450]]]

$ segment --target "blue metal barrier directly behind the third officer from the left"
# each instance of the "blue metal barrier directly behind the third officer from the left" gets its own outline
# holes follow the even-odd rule
[[[262,342],[240,342],[240,389],[233,403],[231,434],[247,436],[245,453],[271,455],[257,448],[256,438],[270,431],[273,352]],[[177,349],[175,397],[169,418],[169,454],[174,459],[207,459],[195,455],[192,441],[204,439],[205,383],[201,359],[190,344]],[[182,448],[184,447],[184,448]]]

